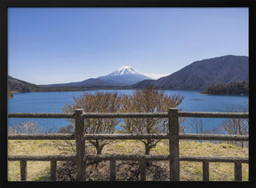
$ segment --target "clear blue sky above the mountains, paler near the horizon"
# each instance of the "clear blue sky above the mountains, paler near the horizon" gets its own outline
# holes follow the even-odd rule
[[[248,56],[248,8],[9,8],[8,74],[78,82],[132,66],[172,74],[223,55]]]

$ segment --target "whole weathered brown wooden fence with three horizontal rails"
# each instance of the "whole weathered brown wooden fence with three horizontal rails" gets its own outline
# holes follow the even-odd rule
[[[110,181],[116,180],[116,161],[140,161],[140,180],[146,181],[147,161],[169,161],[170,181],[180,181],[180,161],[199,161],[203,163],[203,180],[209,181],[209,162],[234,163],[235,181],[242,181],[242,163],[249,163],[248,158],[241,157],[211,157],[211,156],[180,156],[179,140],[225,140],[249,141],[249,136],[212,135],[212,134],[179,134],[179,117],[203,118],[249,118],[248,113],[210,113],[210,112],[182,112],[177,108],[170,108],[168,113],[114,113],[98,114],[84,113],[76,109],[74,114],[8,114],[9,118],[73,118],[75,119],[75,133],[72,134],[10,134],[8,139],[42,140],[60,139],[76,140],[76,155],[48,155],[48,156],[8,156],[8,161],[20,161],[20,179],[27,180],[27,161],[51,161],[51,179],[56,181],[57,161],[76,161],[77,181],[85,181],[86,161],[109,161]],[[84,134],[85,118],[168,118],[168,134]],[[168,139],[169,155],[141,155],[141,154],[87,154],[84,151],[85,140],[91,139]]]

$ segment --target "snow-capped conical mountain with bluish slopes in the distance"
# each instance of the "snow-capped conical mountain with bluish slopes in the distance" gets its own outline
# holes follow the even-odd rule
[[[98,78],[116,85],[130,85],[146,79],[152,79],[145,74],[139,73],[131,66],[120,67],[113,73]]]

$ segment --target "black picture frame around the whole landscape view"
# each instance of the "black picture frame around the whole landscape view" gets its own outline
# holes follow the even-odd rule
[[[1,54],[1,124],[0,124],[0,144],[1,144],[1,187],[26,187],[35,186],[168,186],[168,187],[227,187],[243,186],[256,187],[256,129],[255,129],[255,106],[256,106],[256,84],[254,74],[255,59],[255,23],[256,23],[256,1],[255,0],[2,0],[0,7],[0,54]],[[250,116],[250,146],[249,146],[249,181],[248,182],[8,182],[7,181],[7,75],[8,75],[8,30],[7,30],[7,9],[8,7],[248,7],[249,8],[249,116]]]

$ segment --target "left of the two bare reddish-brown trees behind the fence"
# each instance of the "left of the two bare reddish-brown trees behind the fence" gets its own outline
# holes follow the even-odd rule
[[[82,108],[85,113],[116,113],[121,106],[120,99],[116,92],[84,93],[81,97],[74,98],[75,102],[64,106],[62,110],[64,113],[74,113],[76,108]],[[73,122],[74,126],[74,120],[69,121]],[[84,133],[113,133],[117,123],[118,121],[116,119],[87,118],[84,119]],[[70,129],[70,127],[68,129]],[[95,147],[97,154],[100,154],[103,147],[109,144],[109,141],[102,139],[89,140],[89,142]]]

